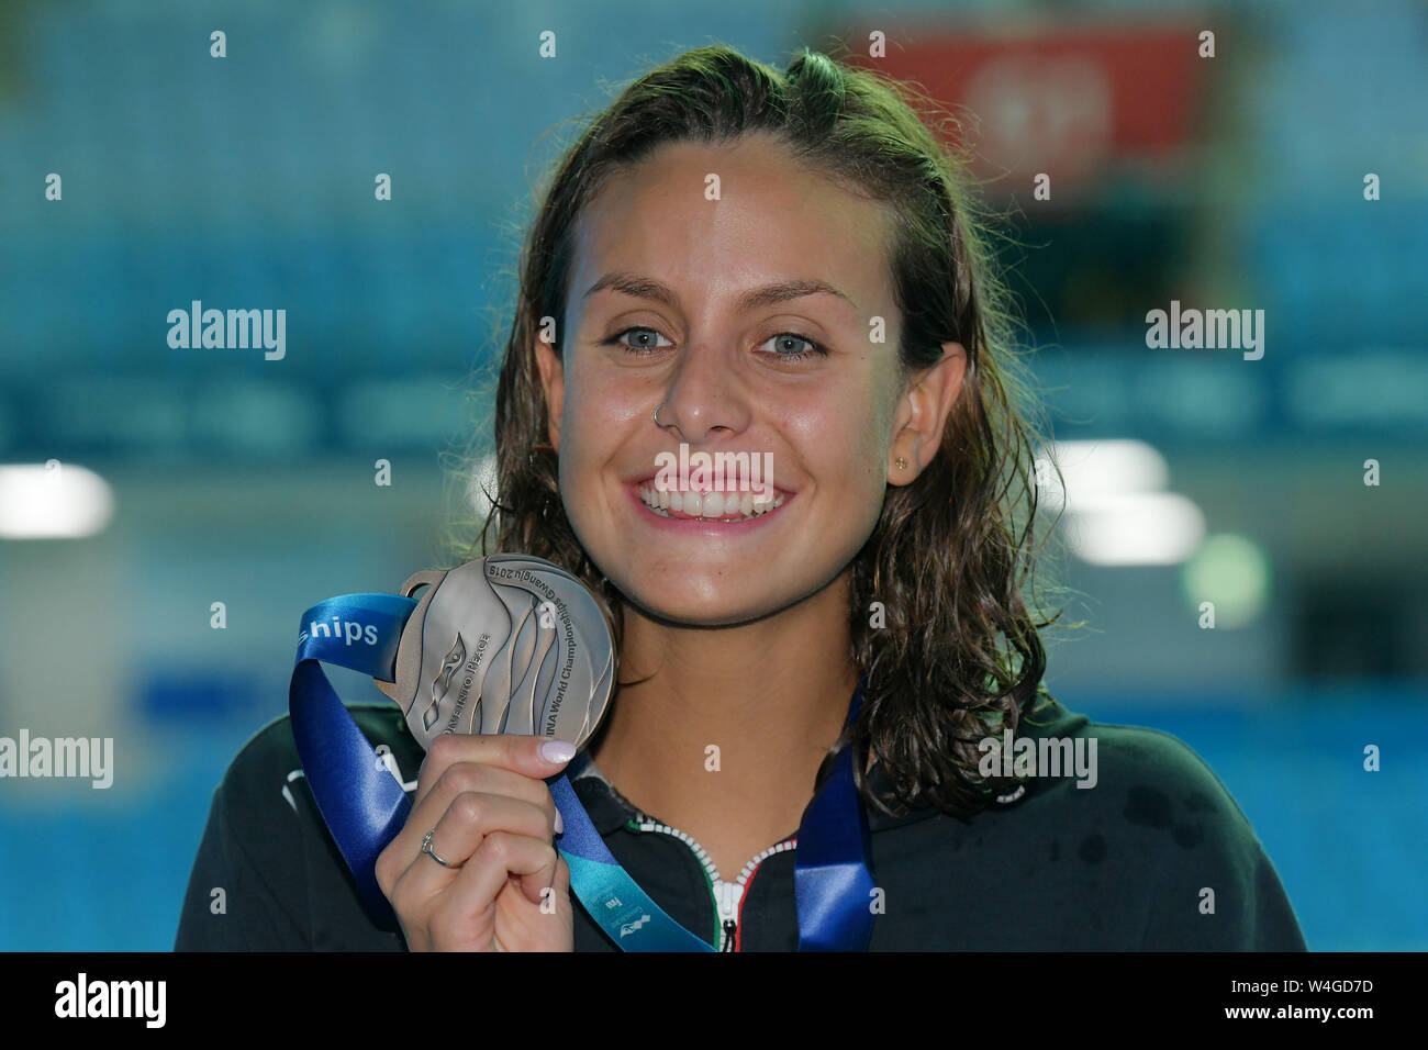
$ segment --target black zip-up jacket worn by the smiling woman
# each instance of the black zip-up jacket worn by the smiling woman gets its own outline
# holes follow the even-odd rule
[[[391,749],[414,791],[423,751],[401,713],[350,710],[374,746]],[[1097,740],[1097,784],[1034,779],[1015,801],[968,821],[873,809],[871,870],[884,911],[871,950],[1304,950],[1259,840],[1190,747],[1157,730],[1090,723],[1054,701],[1035,721],[1018,736]],[[584,753],[568,773],[610,851],[675,921],[727,941],[725,950],[795,949],[794,843],[745,869],[737,910],[734,889],[720,887],[731,927],[718,914],[711,866],[683,833],[635,813]],[[873,776],[881,781],[877,767]],[[574,909],[577,951],[618,950]],[[214,791],[174,949],[406,949],[398,930],[364,911],[286,717],[243,747]]]

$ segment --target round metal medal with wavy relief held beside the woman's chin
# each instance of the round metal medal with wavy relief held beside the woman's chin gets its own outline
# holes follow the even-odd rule
[[[530,554],[490,554],[401,584],[426,593],[401,631],[397,701],[423,747],[444,733],[514,733],[583,747],[614,689],[605,617],[580,580]]]

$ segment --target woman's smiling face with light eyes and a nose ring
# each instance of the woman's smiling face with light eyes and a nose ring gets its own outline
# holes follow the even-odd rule
[[[890,474],[912,473],[890,459],[905,454],[890,230],[883,206],[763,136],[664,146],[584,211],[563,357],[537,353],[565,513],[625,599],[678,623],[744,623],[824,589],[868,539]],[[745,456],[700,484],[677,476],[681,441]],[[678,511],[648,506],[661,454]],[[723,510],[704,496],[688,517],[691,481],[723,484]],[[734,520],[753,500],[730,490],[757,499],[764,481],[777,506]]]

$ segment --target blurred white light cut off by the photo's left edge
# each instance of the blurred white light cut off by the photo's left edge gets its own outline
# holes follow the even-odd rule
[[[0,464],[0,539],[94,536],[114,516],[114,497],[93,470],[49,463]]]

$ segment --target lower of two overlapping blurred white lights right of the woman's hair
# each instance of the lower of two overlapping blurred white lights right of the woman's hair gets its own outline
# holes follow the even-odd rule
[[[1180,493],[1104,496],[1062,521],[1071,550],[1098,566],[1177,564],[1205,536],[1205,516]]]

